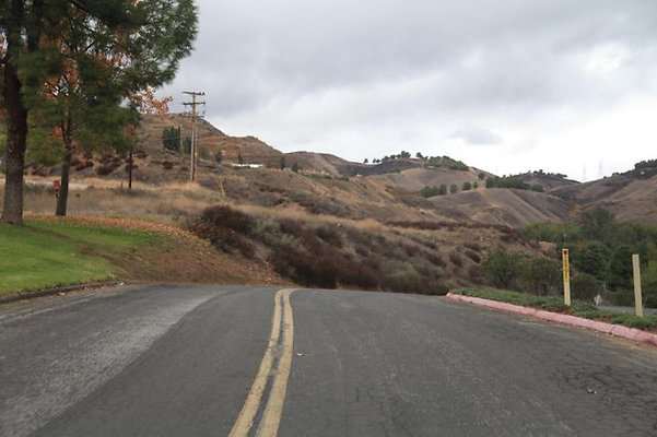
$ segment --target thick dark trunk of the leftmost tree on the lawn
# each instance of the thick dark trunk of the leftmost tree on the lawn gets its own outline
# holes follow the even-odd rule
[[[4,178],[4,204],[1,221],[23,224],[23,173],[25,170],[25,145],[27,139],[27,110],[21,96],[21,80],[16,68],[22,46],[21,22],[23,2],[13,0],[9,11],[7,29],[7,55],[4,63],[4,108],[7,109],[7,152]]]

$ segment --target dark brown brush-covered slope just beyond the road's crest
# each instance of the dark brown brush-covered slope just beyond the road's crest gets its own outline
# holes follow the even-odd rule
[[[505,247],[536,251],[505,227],[455,223],[340,221],[218,205],[191,223],[220,250],[269,263],[277,273],[316,287],[444,294],[485,280],[482,259]]]

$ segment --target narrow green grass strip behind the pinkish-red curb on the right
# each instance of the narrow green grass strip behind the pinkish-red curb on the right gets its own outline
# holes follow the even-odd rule
[[[657,329],[657,316],[645,316],[640,318],[630,314],[603,311],[593,304],[579,300],[573,300],[568,308],[564,305],[563,297],[561,296],[535,296],[506,290],[479,287],[458,288],[451,291],[451,293],[461,294],[464,296],[481,297],[489,300],[506,302],[524,307],[540,308],[547,311],[564,312],[585,319],[602,320],[610,323],[624,324],[631,328],[646,330]]]

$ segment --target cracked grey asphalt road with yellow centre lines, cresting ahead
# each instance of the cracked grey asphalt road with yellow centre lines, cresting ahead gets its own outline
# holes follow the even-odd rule
[[[655,349],[439,297],[289,293],[0,307],[0,436],[657,435]]]

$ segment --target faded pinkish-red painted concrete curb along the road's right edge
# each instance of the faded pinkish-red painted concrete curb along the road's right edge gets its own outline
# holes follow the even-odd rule
[[[606,323],[603,321],[583,319],[580,317],[550,312],[537,308],[521,307],[519,305],[507,304],[504,302],[488,300],[480,297],[464,296],[460,294],[447,293],[445,297],[481,307],[500,309],[502,311],[514,312],[524,316],[532,316],[542,320],[554,321],[558,323],[568,324],[571,327],[593,329],[609,335],[621,336],[623,339],[657,346],[657,334],[642,331],[641,329],[627,328],[622,324]]]

